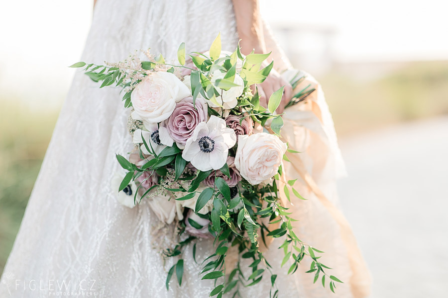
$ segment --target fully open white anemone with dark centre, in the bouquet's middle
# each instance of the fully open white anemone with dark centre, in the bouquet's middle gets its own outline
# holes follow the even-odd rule
[[[201,122],[196,126],[182,157],[198,170],[219,170],[227,160],[228,149],[235,143],[236,134],[226,127],[224,119],[211,116],[207,123]]]

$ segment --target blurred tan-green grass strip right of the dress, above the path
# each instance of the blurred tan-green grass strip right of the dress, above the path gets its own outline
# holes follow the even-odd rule
[[[320,82],[340,135],[448,113],[448,62],[413,62],[368,81],[330,73]]]

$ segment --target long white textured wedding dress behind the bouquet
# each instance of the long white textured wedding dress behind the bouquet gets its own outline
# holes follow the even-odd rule
[[[187,51],[207,50],[219,31],[223,50],[232,51],[238,37],[230,0],[99,0],[82,61],[121,61],[135,49],[149,47],[175,59],[181,42]],[[266,31],[277,69],[288,69],[288,60]],[[345,283],[336,285],[336,294],[328,284],[325,289],[320,282],[313,284],[314,275],[305,273],[307,260],[287,275],[289,266],[280,268],[279,240],[269,246],[266,258],[278,274],[282,298],[366,297],[369,276],[337,209],[335,179],[342,163],[333,121],[321,88],[309,81],[317,91],[305,104],[287,109],[283,128],[285,141],[303,152],[288,153],[292,162],[285,163],[285,172],[288,179],[298,179],[297,189],[308,200],[292,197],[288,204],[300,220],[296,233],[325,251],[322,262]],[[0,297],[67,296],[65,288],[59,293],[62,282],[71,283],[71,296],[77,297],[81,290],[105,298],[209,297],[213,284],[200,280],[199,264],[211,253],[212,242],[196,241],[198,264],[192,245],[187,246],[182,286],[173,277],[167,291],[167,271],[176,260],[164,262],[160,247],[175,235],[160,229],[146,202],[133,209],[117,202],[110,181],[119,167],[115,153],[125,155],[133,147],[129,111],[118,88],[98,87],[86,75],[75,75],[4,269]],[[240,292],[244,298],[265,298],[269,289],[266,276]]]

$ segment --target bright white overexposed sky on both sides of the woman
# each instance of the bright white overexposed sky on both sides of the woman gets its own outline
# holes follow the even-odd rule
[[[0,10],[0,91],[60,102],[79,60],[93,0],[3,1]],[[448,59],[444,0],[261,0],[269,22],[336,30],[341,61]],[[24,84],[26,81],[26,84]],[[24,87],[26,86],[26,88]],[[49,90],[53,87],[53,90]],[[51,92],[50,92],[51,91]],[[53,92],[54,91],[54,92]]]

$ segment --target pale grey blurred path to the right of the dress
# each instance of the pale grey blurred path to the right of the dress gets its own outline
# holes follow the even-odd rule
[[[447,297],[448,117],[340,141],[344,213],[375,298]]]

